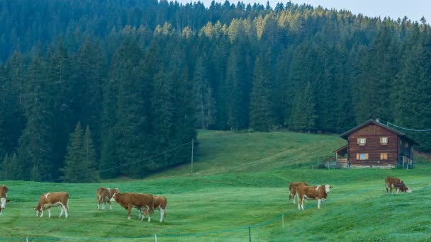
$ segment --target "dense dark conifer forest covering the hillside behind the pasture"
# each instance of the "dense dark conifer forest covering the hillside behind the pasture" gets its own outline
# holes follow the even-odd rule
[[[0,23],[0,180],[142,178],[189,162],[198,129],[431,128],[425,18],[4,0]],[[429,133],[406,133],[431,150]]]

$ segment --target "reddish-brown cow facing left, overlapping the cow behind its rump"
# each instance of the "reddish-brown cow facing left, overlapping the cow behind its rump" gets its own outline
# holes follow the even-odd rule
[[[151,221],[152,208],[154,207],[154,197],[147,193],[134,192],[116,192],[111,197],[111,202],[117,202],[127,209],[128,219],[130,219],[130,211],[135,207],[140,212],[144,207],[148,209],[148,221]]]

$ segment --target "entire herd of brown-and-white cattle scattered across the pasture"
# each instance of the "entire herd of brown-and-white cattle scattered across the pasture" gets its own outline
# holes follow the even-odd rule
[[[398,178],[387,177],[385,179],[386,192],[391,192],[395,189],[396,193],[412,192],[402,180]],[[289,201],[295,203],[295,197],[298,197],[298,209],[304,209],[304,200],[318,200],[318,209],[320,203],[325,201],[330,192],[331,185],[315,185],[308,186],[307,183],[290,183],[289,184]],[[6,185],[0,185],[0,215],[3,213],[7,199],[8,188]],[[166,216],[167,200],[164,196],[151,195],[148,193],[135,192],[120,192],[118,188],[98,188],[96,192],[97,209],[105,209],[106,202],[109,204],[109,209],[112,209],[112,202],[116,202],[128,211],[128,219],[132,208],[138,209],[138,219],[141,221],[148,214],[148,221],[151,221],[152,211],[158,209],[160,211],[160,222],[164,221]],[[68,192],[47,192],[40,196],[38,206],[34,207],[36,215],[43,217],[43,211],[47,209],[48,217],[51,217],[51,207],[61,207],[60,217],[63,212],[67,218],[69,212],[69,193]]]

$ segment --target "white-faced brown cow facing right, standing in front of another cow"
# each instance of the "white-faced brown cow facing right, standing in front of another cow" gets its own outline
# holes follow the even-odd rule
[[[304,209],[304,199],[306,200],[318,200],[318,209],[320,209],[320,202],[325,201],[330,192],[330,188],[332,185],[315,185],[315,186],[306,186],[301,185],[296,190],[296,194],[298,195],[298,209]]]

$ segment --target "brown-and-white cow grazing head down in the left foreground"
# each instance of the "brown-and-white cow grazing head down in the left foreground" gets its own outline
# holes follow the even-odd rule
[[[65,212],[67,219],[69,212],[69,193],[68,192],[47,192],[40,196],[38,206],[34,207],[36,210],[36,217],[43,217],[43,211],[48,210],[48,217],[51,217],[51,207],[61,206],[60,217]]]

